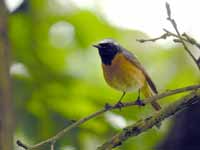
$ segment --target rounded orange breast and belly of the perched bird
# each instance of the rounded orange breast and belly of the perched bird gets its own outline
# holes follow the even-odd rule
[[[117,90],[128,92],[144,85],[145,77],[142,71],[121,53],[115,56],[111,65],[102,64],[102,68],[106,82]]]

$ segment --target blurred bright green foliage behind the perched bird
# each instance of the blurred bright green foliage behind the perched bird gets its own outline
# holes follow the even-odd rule
[[[181,47],[138,43],[142,31],[112,26],[96,11],[82,9],[69,0],[62,7],[56,0],[30,0],[9,14],[12,53],[15,140],[35,144],[85,117],[105,103],[115,103],[121,93],[104,81],[98,51],[92,44],[113,38],[134,52],[160,92],[199,81],[198,70]],[[176,95],[161,105],[173,102]],[[124,101],[135,100],[129,93]],[[73,129],[56,143],[57,150],[94,150],[123,127],[153,113],[150,106],[130,107],[103,114]],[[121,150],[150,150],[170,128],[131,138]],[[15,149],[19,150],[17,146]],[[41,150],[49,147],[41,147]]]

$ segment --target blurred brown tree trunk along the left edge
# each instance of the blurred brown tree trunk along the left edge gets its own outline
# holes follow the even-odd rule
[[[13,149],[11,79],[9,75],[8,12],[0,0],[0,150]]]

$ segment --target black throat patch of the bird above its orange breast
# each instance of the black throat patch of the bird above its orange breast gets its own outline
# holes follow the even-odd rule
[[[101,61],[103,64],[105,65],[111,65],[112,64],[112,60],[115,58],[116,54],[118,53],[118,51],[112,51],[112,52],[107,52],[104,50],[99,50],[99,55],[101,57]]]

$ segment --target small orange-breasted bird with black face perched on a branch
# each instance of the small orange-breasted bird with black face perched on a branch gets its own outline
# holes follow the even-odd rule
[[[123,104],[121,101],[127,92],[138,90],[138,100],[140,92],[145,98],[158,93],[154,82],[132,52],[110,38],[93,46],[98,49],[105,81],[110,87],[122,92],[117,104]],[[152,101],[151,105],[156,111],[161,109],[156,101]]]

